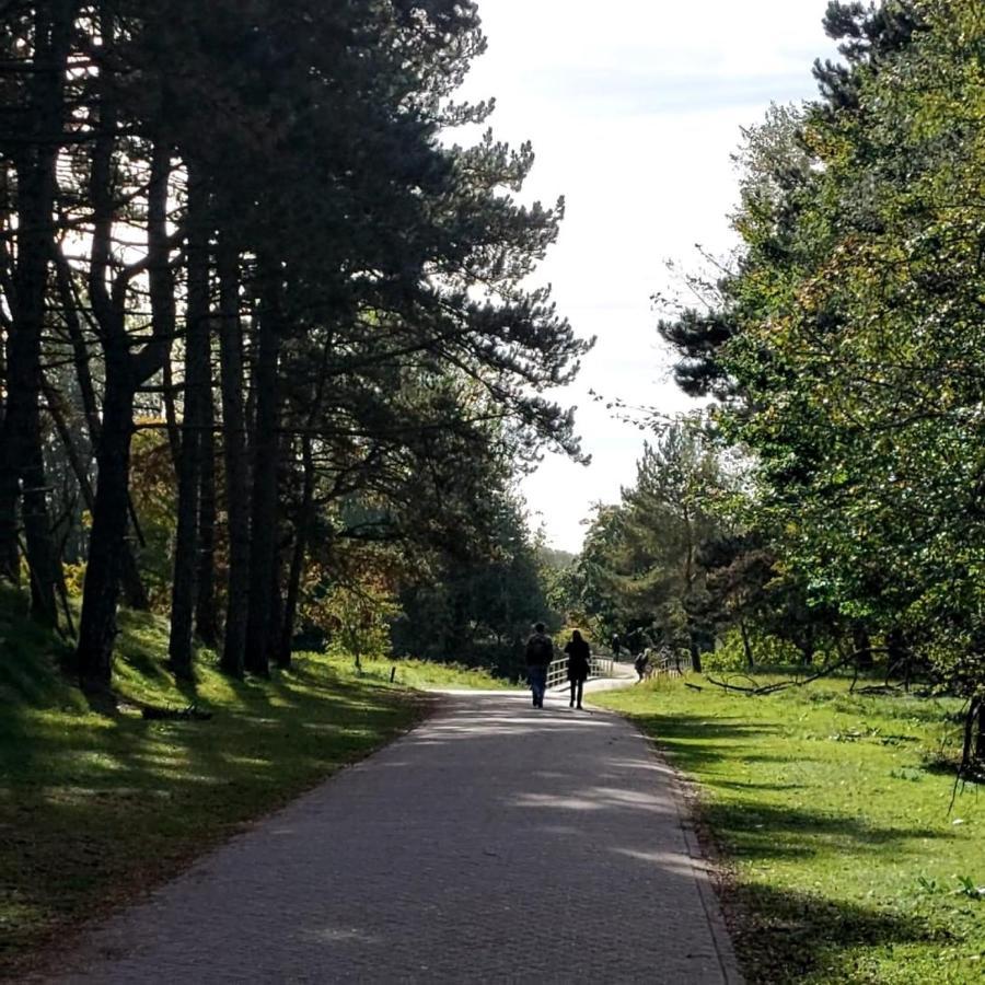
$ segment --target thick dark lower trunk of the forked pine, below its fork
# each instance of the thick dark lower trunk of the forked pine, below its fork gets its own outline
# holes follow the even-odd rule
[[[106,392],[96,452],[99,485],[77,649],[80,683],[86,691],[108,690],[112,677],[123,558],[120,546],[127,535],[130,439],[134,436],[136,384],[130,369],[126,349],[106,351]]]

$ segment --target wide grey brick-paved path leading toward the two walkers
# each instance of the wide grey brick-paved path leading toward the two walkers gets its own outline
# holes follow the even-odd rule
[[[739,982],[631,727],[456,694],[95,930],[59,982]]]

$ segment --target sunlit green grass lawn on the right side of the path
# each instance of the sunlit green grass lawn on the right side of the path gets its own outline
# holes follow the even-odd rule
[[[697,679],[693,679],[698,683]],[[745,697],[662,680],[593,700],[698,785],[751,983],[985,980],[985,797],[951,813],[954,702],[819,682]]]

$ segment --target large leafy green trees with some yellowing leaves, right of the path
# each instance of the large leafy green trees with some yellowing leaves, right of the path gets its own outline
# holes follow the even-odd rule
[[[806,658],[825,622],[896,634],[973,696],[985,16],[976,0],[894,0],[833,3],[826,23],[846,63],[816,67],[820,102],[745,131],[744,248],[709,313],[661,331],[682,385],[721,397],[719,434],[752,456],[748,529],[791,592],[773,631],[797,627]]]

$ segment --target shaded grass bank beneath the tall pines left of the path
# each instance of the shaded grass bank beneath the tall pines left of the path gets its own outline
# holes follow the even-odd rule
[[[81,919],[189,859],[425,714],[410,686],[491,686],[461,669],[372,662],[356,675],[303,654],[271,681],[230,681],[200,654],[194,687],[162,665],[166,626],[123,613],[115,684],[125,698],[212,718],[148,721],[91,708],[58,671],[65,647],[0,591],[0,976]],[[385,670],[385,673],[384,673]]]

